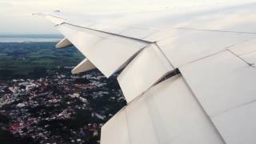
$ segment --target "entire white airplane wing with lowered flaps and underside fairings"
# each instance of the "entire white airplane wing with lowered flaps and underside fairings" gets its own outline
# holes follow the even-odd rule
[[[44,16],[56,47],[86,56],[74,74],[118,70],[128,103],[102,126],[102,144],[256,142],[256,3],[160,10],[94,22]]]

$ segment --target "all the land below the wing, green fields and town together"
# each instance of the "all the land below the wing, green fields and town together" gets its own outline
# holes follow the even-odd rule
[[[84,57],[54,44],[0,43],[0,142],[96,144],[126,105],[118,74],[70,74]]]

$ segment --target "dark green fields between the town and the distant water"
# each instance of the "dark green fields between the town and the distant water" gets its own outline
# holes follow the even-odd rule
[[[55,42],[0,43],[0,79],[34,78],[84,58],[74,47],[55,49]]]

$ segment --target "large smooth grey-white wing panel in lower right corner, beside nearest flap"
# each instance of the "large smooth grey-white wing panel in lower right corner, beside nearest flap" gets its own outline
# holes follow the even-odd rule
[[[180,71],[227,143],[256,141],[254,67],[225,50],[182,66]]]

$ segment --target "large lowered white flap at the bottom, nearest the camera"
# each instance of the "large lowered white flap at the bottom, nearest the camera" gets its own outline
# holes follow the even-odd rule
[[[152,87],[102,126],[101,143],[118,142],[225,143],[181,75]]]

